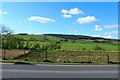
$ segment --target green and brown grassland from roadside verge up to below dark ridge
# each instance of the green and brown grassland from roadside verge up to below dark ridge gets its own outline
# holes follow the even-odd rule
[[[3,60],[3,62],[30,62],[33,64],[108,64],[107,54],[109,54],[110,61],[118,62],[118,42],[112,43],[96,43],[94,40],[69,40],[61,41],[62,38],[43,36],[43,35],[14,35],[15,37],[29,40],[33,45],[39,43],[40,46],[47,45],[49,43],[60,42],[61,49],[48,52],[48,59],[50,62],[42,62],[45,59],[45,52],[33,51],[29,54],[23,55],[14,60],[12,55],[18,55],[17,50],[11,49],[12,53],[6,53],[7,58],[11,60]],[[62,39],[63,40],[63,39]],[[26,43],[26,41],[25,41]],[[113,45],[115,44],[115,45]],[[32,45],[32,46],[33,46]],[[32,47],[31,46],[31,47]],[[105,51],[94,51],[95,46],[100,46]],[[83,51],[83,49],[85,49]],[[15,51],[15,52],[14,52]],[[114,51],[114,52],[112,52]],[[22,52],[23,53],[23,52]],[[11,57],[10,57],[11,56]],[[25,61],[28,59],[28,61]],[[67,63],[69,61],[69,63]],[[80,62],[92,62],[92,63],[80,63]],[[66,63],[65,63],[66,62]],[[109,65],[109,64],[108,64]]]

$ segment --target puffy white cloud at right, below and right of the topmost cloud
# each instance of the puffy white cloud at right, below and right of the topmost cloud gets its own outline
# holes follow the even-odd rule
[[[98,20],[94,16],[87,16],[87,17],[78,18],[76,21],[79,22],[80,24],[85,24],[85,23],[97,22]]]

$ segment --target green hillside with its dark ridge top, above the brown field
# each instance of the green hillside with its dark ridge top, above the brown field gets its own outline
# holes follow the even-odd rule
[[[118,51],[119,47],[118,40],[83,35],[43,34],[13,36],[21,38],[24,42],[30,41],[32,45],[39,43],[40,46],[43,46],[49,43],[60,43],[61,50],[95,50],[96,46],[100,46],[106,51]]]

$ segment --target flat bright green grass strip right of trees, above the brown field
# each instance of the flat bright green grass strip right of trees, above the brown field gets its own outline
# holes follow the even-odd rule
[[[61,49],[63,50],[94,50],[95,46],[100,46],[104,48],[106,51],[117,51],[118,46],[110,45],[110,44],[103,44],[103,43],[83,43],[83,42],[64,42],[61,44]]]

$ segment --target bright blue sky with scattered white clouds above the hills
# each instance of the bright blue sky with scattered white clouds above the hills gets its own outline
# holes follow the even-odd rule
[[[4,2],[2,24],[15,33],[118,38],[117,2]]]

